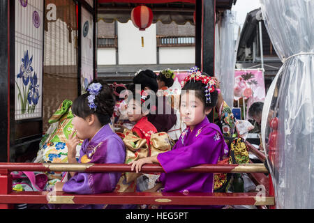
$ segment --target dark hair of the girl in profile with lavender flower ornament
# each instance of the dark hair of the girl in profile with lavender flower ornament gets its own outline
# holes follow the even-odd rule
[[[107,125],[110,123],[110,118],[114,112],[115,100],[112,89],[102,79],[94,79],[90,84],[92,83],[100,83],[103,86],[94,100],[94,103],[97,106],[96,110],[89,107],[89,100],[87,99],[89,93],[87,92],[74,100],[72,112],[75,116],[81,118],[86,118],[90,114],[95,114],[101,125]]]

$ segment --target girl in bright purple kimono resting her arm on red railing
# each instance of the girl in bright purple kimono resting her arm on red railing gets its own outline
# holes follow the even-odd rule
[[[200,164],[216,164],[227,157],[229,149],[218,125],[210,123],[207,114],[217,102],[215,80],[201,74],[196,68],[184,79],[181,91],[181,120],[188,126],[182,132],[172,151],[134,161],[131,169],[140,171],[143,164],[158,163],[165,173],[147,192],[213,192],[213,173],[179,173],[181,169]],[[161,208],[214,208],[214,206],[162,206]]]

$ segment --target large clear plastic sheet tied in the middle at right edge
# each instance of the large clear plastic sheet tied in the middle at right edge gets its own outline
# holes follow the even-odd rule
[[[261,0],[283,61],[262,114],[262,140],[276,208],[314,208],[314,1]]]

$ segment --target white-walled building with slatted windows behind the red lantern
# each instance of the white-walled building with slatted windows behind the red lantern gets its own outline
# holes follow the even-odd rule
[[[98,21],[98,77],[128,82],[137,70],[188,70],[195,63],[195,25]]]

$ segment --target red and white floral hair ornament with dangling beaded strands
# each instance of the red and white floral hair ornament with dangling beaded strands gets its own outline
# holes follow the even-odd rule
[[[183,87],[187,82],[191,82],[192,80],[193,80],[193,82],[200,81],[203,84],[206,84],[206,88],[204,91],[205,97],[206,97],[206,102],[211,103],[211,93],[216,90],[216,86],[215,86],[216,80],[211,78],[211,77],[207,77],[205,75],[202,75],[202,73],[200,72],[200,70],[196,66],[193,68],[190,68],[190,70],[188,70],[188,76],[184,79],[181,86]]]

